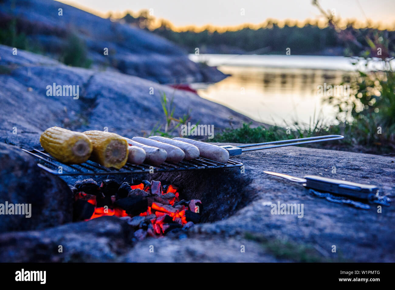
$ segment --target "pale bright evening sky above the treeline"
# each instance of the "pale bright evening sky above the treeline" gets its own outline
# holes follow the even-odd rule
[[[61,0],[60,2],[88,10],[102,17],[108,12],[137,12],[151,9],[154,17],[166,19],[176,27],[238,26],[259,24],[268,18],[305,21],[318,19],[320,13],[311,0]],[[342,19],[357,19],[395,25],[395,0],[320,0],[324,9],[333,10]],[[244,10],[242,10],[244,9]],[[244,15],[242,15],[244,12]],[[116,14],[115,14],[116,15]]]

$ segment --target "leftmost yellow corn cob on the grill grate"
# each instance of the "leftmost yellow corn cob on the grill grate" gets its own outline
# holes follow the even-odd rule
[[[45,130],[40,143],[45,151],[63,163],[83,163],[92,153],[92,142],[87,135],[60,127]]]

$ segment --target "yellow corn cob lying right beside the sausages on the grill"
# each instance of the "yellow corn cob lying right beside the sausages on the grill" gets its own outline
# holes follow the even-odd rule
[[[128,142],[115,133],[105,131],[85,131],[93,144],[93,161],[105,166],[121,168],[128,160]]]

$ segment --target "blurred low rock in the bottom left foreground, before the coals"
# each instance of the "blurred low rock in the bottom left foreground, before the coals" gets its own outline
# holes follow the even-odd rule
[[[2,234],[0,260],[106,262],[128,249],[131,236],[130,226],[118,217],[98,217],[42,231]]]

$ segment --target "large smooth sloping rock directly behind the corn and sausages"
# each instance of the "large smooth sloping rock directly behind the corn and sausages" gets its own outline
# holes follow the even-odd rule
[[[8,74],[0,74],[0,142],[40,148],[40,134],[51,126],[76,131],[107,127],[129,138],[149,134],[158,123],[165,123],[162,93],[174,95],[175,117],[190,111],[192,124],[214,125],[214,132],[229,123],[237,127],[251,121],[194,93],[138,77],[68,67],[22,50],[14,56],[11,47],[3,45],[0,57],[0,66],[9,69]],[[53,83],[79,86],[79,99],[47,96],[47,86]]]

